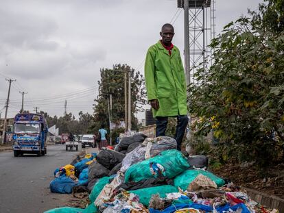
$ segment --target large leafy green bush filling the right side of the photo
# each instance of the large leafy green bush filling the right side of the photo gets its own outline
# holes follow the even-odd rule
[[[213,129],[223,160],[266,166],[283,155],[284,3],[268,1],[212,40],[214,63],[191,84],[189,110],[201,119],[196,135]]]

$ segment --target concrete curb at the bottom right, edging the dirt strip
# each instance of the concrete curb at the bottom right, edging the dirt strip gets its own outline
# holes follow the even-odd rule
[[[261,203],[261,205],[268,206],[269,208],[278,209],[279,212],[284,212],[284,199],[274,195],[267,195],[251,188],[244,189],[248,192],[248,196],[254,201]]]

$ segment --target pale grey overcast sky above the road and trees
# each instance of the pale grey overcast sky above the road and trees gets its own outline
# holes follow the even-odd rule
[[[216,25],[226,23],[260,0],[216,0]],[[145,53],[159,38],[163,23],[174,22],[174,45],[183,51],[183,11],[176,0],[1,0],[0,112],[8,116],[34,107],[51,116],[93,114],[99,68],[126,63],[143,73]],[[174,18],[174,19],[173,19]],[[142,118],[143,114],[139,114]]]

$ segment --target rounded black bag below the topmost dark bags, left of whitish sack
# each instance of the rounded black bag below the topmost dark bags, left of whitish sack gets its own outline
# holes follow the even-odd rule
[[[110,149],[103,149],[97,154],[97,162],[108,169],[113,169],[126,155]]]

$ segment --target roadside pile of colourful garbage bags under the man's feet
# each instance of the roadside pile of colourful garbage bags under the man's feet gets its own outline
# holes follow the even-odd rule
[[[71,193],[85,186],[90,204],[84,209],[63,207],[46,213],[249,213],[264,209],[246,191],[206,171],[207,167],[206,156],[185,157],[176,150],[173,138],[135,134],[123,138],[115,150],[103,149],[58,168],[51,192]]]

